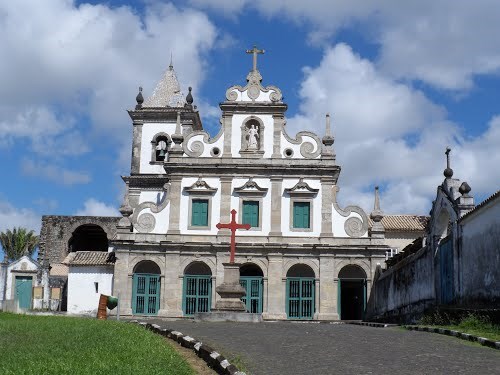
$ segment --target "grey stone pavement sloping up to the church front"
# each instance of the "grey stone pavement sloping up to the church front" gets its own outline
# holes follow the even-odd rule
[[[500,351],[399,327],[147,319],[239,355],[251,375],[500,374]]]

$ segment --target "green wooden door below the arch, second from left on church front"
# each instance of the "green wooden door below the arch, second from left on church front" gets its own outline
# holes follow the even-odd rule
[[[209,312],[212,304],[212,277],[185,275],[182,295],[184,315],[192,316],[197,312]]]

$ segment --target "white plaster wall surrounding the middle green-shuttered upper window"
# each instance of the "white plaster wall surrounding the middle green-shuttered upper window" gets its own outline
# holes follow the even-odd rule
[[[233,187],[234,190],[237,187],[241,187],[248,181],[248,178],[235,178],[233,179]],[[254,178],[254,182],[257,183],[261,188],[267,188],[267,193],[264,197],[262,197],[262,205],[260,207],[261,212],[261,230],[239,230],[238,236],[267,236],[271,231],[271,181],[266,178]],[[233,194],[231,196],[231,210],[235,209],[238,211],[238,218],[236,219],[238,222],[241,222],[241,212],[240,210],[240,197],[245,198],[244,195],[240,196],[238,194]],[[251,198],[249,198],[251,199]],[[256,198],[257,200],[260,199]]]

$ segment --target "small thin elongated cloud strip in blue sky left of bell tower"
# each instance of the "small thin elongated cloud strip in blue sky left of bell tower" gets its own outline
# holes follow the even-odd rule
[[[30,159],[21,161],[23,174],[32,177],[42,177],[49,181],[63,185],[87,184],[90,182],[90,175],[86,172],[72,171],[60,166],[36,162]]]

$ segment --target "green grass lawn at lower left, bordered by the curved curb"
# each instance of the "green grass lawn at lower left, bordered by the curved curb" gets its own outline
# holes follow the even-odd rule
[[[130,323],[0,313],[2,374],[195,374],[164,338]]]

